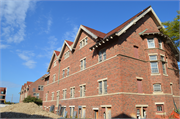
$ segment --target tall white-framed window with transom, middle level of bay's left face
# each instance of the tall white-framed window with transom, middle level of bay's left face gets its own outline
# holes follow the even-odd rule
[[[158,62],[157,62],[157,55],[150,55],[150,65],[151,65],[151,73],[159,73],[158,70]]]

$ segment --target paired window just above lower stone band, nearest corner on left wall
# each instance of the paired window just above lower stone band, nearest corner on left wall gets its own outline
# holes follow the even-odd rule
[[[99,81],[99,94],[107,93],[107,80]]]

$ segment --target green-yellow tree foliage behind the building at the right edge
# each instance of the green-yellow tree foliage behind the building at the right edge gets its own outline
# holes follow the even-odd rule
[[[180,19],[180,11],[177,11],[178,15],[174,18],[173,21],[163,22],[162,25],[165,26],[161,31],[168,35],[176,47],[179,47],[179,19]]]

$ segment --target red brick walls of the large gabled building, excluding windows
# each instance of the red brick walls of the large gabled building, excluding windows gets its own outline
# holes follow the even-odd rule
[[[120,37],[114,37],[113,40],[93,51],[89,51],[89,48],[95,44],[95,39],[92,39],[85,32],[80,32],[79,41],[88,36],[88,44],[80,49],[78,41],[75,51],[70,52],[67,59],[64,59],[63,54],[60,69],[59,63],[56,67],[50,68],[50,84],[44,87],[43,108],[44,106],[56,105],[56,91],[60,90],[59,104],[66,106],[68,117],[70,105],[75,105],[75,111],[78,111],[78,106],[86,105],[87,118],[93,118],[93,107],[99,108],[99,118],[103,118],[101,105],[112,106],[112,117],[136,115],[136,105],[148,105],[147,118],[154,118],[157,112],[156,102],[163,102],[164,111],[169,115],[174,107],[173,97],[179,106],[178,75],[172,70],[177,65],[177,61],[172,49],[166,44],[163,50],[158,49],[156,37],[154,38],[156,48],[148,49],[147,38],[139,35],[145,29],[158,32],[156,24],[148,14],[129,28],[126,33]],[[162,41],[164,45],[164,40],[162,39]],[[135,58],[134,45],[138,46],[139,59]],[[106,61],[98,63],[98,51],[102,48],[106,49]],[[68,50],[68,47],[65,46],[64,52]],[[161,62],[158,62],[160,75],[151,75],[148,53],[158,53],[158,59],[160,59],[160,54],[164,54],[165,58],[168,57],[169,68],[166,66],[168,76],[163,75]],[[81,71],[80,59],[84,57],[86,57],[86,69]],[[62,78],[62,70],[67,67],[70,67],[69,76]],[[59,71],[60,81],[58,84]],[[56,74],[55,83],[52,83],[53,74]],[[143,93],[138,93],[136,77],[143,78]],[[103,78],[107,78],[108,94],[99,95],[97,81]],[[173,83],[174,96],[171,95],[170,82]],[[161,83],[163,94],[153,94],[154,83]],[[86,84],[85,97],[83,98],[80,97],[80,84]],[[70,98],[70,87],[73,86],[75,86],[75,98]],[[67,89],[66,99],[62,99],[63,89]],[[51,100],[52,92],[54,92],[54,100]],[[48,101],[45,101],[46,93],[48,93]]]

